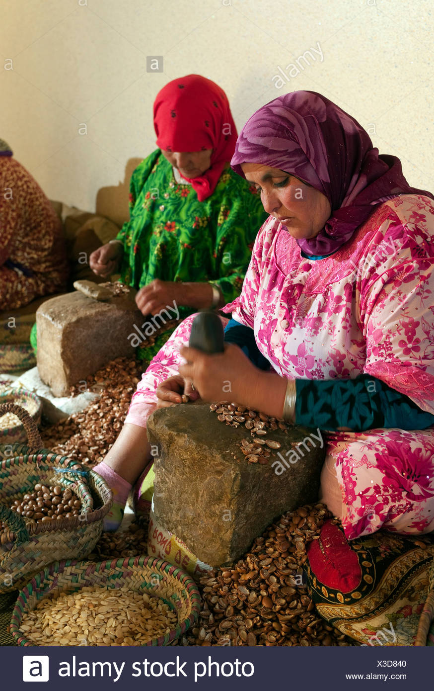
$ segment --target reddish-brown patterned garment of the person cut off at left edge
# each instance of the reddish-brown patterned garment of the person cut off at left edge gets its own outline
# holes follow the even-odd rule
[[[0,158],[0,310],[66,288],[68,263],[61,222],[30,173]]]

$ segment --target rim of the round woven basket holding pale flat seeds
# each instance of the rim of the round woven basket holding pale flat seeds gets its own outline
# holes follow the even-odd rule
[[[201,596],[199,594],[199,590],[197,588],[195,580],[193,580],[193,578],[189,574],[187,574],[186,571],[180,569],[179,567],[173,564],[170,564],[164,559],[152,556],[126,557],[112,560],[103,560],[101,562],[68,559],[62,560],[60,562],[52,562],[52,564],[48,565],[45,569],[39,571],[39,574],[36,574],[32,578],[32,580],[30,580],[30,582],[27,583],[27,585],[19,591],[17,602],[15,603],[14,610],[12,612],[12,618],[8,626],[10,634],[12,634],[12,636],[14,637],[14,640],[16,641],[17,645],[26,647],[39,647],[35,643],[29,641],[28,638],[26,638],[26,636],[23,636],[22,632],[19,630],[19,625],[21,623],[23,612],[26,609],[28,597],[32,596],[32,594],[37,593],[38,591],[41,591],[43,589],[44,583],[46,583],[46,585],[52,585],[53,576],[55,576],[56,579],[55,583],[58,583],[59,580],[61,580],[62,574],[66,572],[69,567],[74,567],[77,565],[80,568],[82,568],[83,571],[86,572],[86,574],[95,573],[95,571],[97,571],[98,574],[103,574],[104,571],[110,573],[110,569],[119,569],[119,567],[127,569],[128,567],[135,566],[141,567],[143,569],[152,569],[153,571],[160,571],[163,574],[167,574],[168,576],[175,578],[176,580],[179,580],[179,583],[181,583],[181,585],[184,586],[188,594],[188,600],[190,600],[191,607],[191,611],[188,617],[184,618],[184,620],[181,621],[181,623],[178,623],[175,626],[175,628],[171,629],[164,636],[159,636],[159,638],[152,638],[147,643],[144,643],[143,645],[137,647],[168,645],[172,641],[175,641],[175,638],[179,638],[182,634],[184,634],[184,632],[190,629],[190,627],[193,627],[195,621],[197,621],[197,617],[199,616],[201,607]],[[73,584],[70,581],[68,581],[67,583],[68,585],[79,585],[81,587],[80,583]],[[156,596],[158,597],[158,594]]]

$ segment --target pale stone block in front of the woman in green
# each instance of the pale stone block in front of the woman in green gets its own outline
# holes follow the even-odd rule
[[[87,285],[47,300],[36,313],[39,376],[55,396],[68,395],[71,386],[85,382],[110,360],[133,357],[128,336],[144,320],[135,290],[110,297],[108,289],[81,283]],[[92,290],[99,293],[91,297]]]

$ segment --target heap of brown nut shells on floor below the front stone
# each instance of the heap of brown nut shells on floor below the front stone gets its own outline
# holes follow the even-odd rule
[[[326,518],[323,504],[285,513],[235,565],[201,576],[204,603],[180,645],[354,645],[317,615],[306,587],[306,547]]]

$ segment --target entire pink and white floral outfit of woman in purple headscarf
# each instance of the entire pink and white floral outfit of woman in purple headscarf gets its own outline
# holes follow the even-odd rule
[[[380,205],[335,254],[304,258],[272,217],[262,226],[239,298],[224,308],[255,332],[282,377],[381,379],[434,413],[434,204],[402,195]],[[146,426],[155,389],[177,372],[179,325],[137,386],[126,422]],[[347,538],[381,527],[434,529],[434,428],[327,435],[326,471],[342,493]]]

